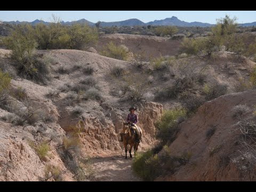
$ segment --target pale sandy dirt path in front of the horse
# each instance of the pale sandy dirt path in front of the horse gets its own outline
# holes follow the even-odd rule
[[[95,179],[97,181],[140,181],[132,173],[132,158],[111,156],[94,158]]]

